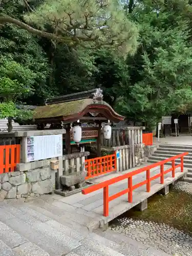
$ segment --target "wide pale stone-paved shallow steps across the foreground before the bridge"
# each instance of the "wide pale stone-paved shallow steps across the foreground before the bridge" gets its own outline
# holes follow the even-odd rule
[[[168,256],[112,230],[91,232],[82,214],[55,202],[40,197],[30,203],[0,203],[0,255]]]

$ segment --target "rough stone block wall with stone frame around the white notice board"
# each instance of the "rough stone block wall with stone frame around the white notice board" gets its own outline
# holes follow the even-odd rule
[[[40,195],[52,193],[55,183],[63,173],[62,156],[44,159],[34,162],[27,161],[26,137],[65,134],[65,129],[44,131],[17,131],[5,133],[0,136],[0,144],[13,144],[20,141],[20,163],[16,165],[15,172],[0,174],[0,201],[4,199],[19,199],[39,197]],[[9,141],[7,141],[7,138]],[[12,139],[10,141],[10,139]],[[5,141],[5,143],[4,143]],[[54,161],[58,161],[56,165]],[[2,171],[2,170],[1,170]],[[55,172],[58,172],[58,180],[55,180]]]

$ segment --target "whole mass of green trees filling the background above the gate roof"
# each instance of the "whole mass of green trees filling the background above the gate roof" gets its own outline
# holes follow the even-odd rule
[[[1,15],[55,36],[0,27],[1,117],[30,118],[15,104],[38,105],[50,96],[98,87],[117,112],[148,129],[164,115],[191,108],[190,3],[118,2],[0,3]]]

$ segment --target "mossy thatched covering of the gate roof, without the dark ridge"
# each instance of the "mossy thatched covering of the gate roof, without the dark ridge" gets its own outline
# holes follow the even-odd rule
[[[61,102],[61,103],[55,103],[55,104],[49,104],[44,106],[37,106],[35,109],[33,118],[34,119],[44,119],[44,118],[56,118],[56,117],[65,117],[65,116],[71,116],[78,113],[81,113],[84,109],[86,109],[89,105],[104,105],[106,108],[110,109],[111,112],[117,118],[123,119],[122,116],[118,115],[111,106],[106,103],[105,101],[97,101],[93,99],[79,99],[74,101],[68,101],[68,102]]]

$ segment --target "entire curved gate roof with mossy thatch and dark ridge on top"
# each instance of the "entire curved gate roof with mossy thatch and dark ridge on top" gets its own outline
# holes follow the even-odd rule
[[[114,122],[124,120],[112,107],[102,100],[102,90],[94,89],[65,96],[54,97],[46,101],[46,105],[37,106],[33,119],[36,123],[74,122],[87,114],[100,113],[101,117]],[[97,119],[97,118],[96,118]]]

